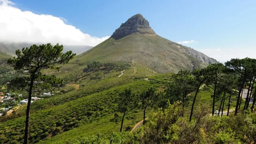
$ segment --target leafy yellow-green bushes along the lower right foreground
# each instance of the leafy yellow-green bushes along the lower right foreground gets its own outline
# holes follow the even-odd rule
[[[195,109],[196,117],[189,122],[188,117],[182,117],[182,103],[168,105],[165,110],[159,109],[148,125],[136,131],[116,133],[105,137],[98,133],[89,137],[78,137],[55,144],[129,144],[129,143],[253,143],[255,141],[256,113],[239,114],[230,117],[209,116],[208,106]],[[253,132],[254,131],[254,132]]]

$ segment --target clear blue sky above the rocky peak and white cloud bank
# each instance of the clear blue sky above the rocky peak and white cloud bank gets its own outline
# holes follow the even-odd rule
[[[1,0],[0,0],[1,1]],[[3,1],[3,0],[2,0]],[[152,29],[171,41],[215,59],[253,57],[255,49],[255,0],[12,0],[14,7],[47,14],[80,29],[84,34],[110,36],[121,23],[141,13]],[[189,43],[189,41],[194,42]],[[233,50],[232,50],[233,49]],[[254,50],[255,52],[256,50]]]

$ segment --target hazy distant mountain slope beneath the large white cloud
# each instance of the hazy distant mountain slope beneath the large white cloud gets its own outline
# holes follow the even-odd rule
[[[15,54],[15,51],[17,49],[22,49],[22,48],[26,48],[26,47],[30,47],[31,45],[34,45],[33,43],[16,43],[16,42],[0,42],[0,51],[1,52],[6,52],[6,53],[10,53],[10,54]],[[36,44],[36,45],[40,45],[40,44]],[[67,52],[67,51],[72,51],[74,53],[76,53],[77,55],[87,51],[88,49],[91,49],[92,46],[87,46],[87,45],[64,45],[63,46],[63,52]]]

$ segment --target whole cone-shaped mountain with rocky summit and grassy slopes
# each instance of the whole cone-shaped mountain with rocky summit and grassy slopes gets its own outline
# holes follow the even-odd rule
[[[78,57],[81,62],[136,63],[158,73],[218,63],[201,52],[160,37],[141,14],[129,18],[109,39]]]

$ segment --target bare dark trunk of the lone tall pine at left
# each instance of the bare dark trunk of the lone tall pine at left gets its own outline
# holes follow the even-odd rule
[[[31,97],[32,97],[32,88],[34,84],[34,76],[31,76],[29,92],[28,92],[28,102],[27,102],[27,110],[26,110],[26,124],[25,124],[25,135],[24,135],[24,144],[28,144],[28,136],[29,136],[29,116],[30,116],[30,105],[31,105]]]

